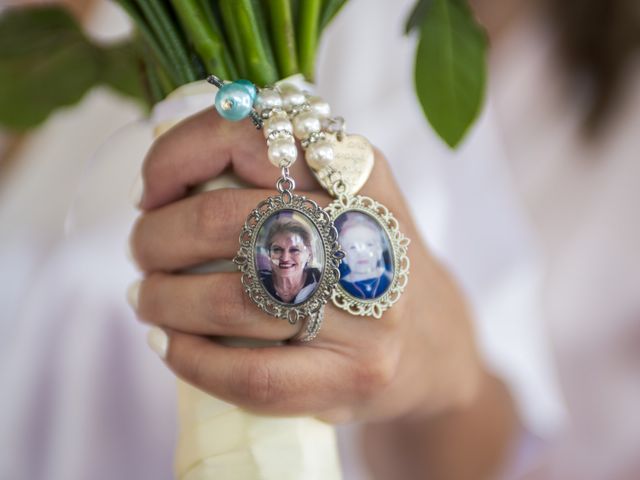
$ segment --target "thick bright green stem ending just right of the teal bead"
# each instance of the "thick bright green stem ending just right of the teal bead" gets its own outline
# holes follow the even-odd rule
[[[278,80],[278,72],[266,38],[266,25],[259,10],[260,5],[254,4],[251,0],[226,0],[226,2],[229,2],[234,14],[249,80],[259,86],[275,83]]]

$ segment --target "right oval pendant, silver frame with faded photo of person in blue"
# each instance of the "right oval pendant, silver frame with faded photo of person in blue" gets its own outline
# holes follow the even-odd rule
[[[326,210],[338,230],[338,242],[345,254],[341,278],[332,295],[333,304],[353,315],[380,318],[398,301],[407,285],[410,240],[400,231],[397,219],[387,207],[369,197],[341,195]],[[363,249],[368,260],[362,254]],[[365,267],[369,262],[369,267],[376,268],[376,273],[369,275],[370,280],[349,278],[358,278],[355,266],[349,264],[351,251],[356,252],[354,258],[360,259]],[[359,278],[363,278],[360,273]]]

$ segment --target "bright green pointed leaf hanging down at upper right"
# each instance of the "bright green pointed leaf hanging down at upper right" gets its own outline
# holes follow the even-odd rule
[[[465,0],[433,0],[420,24],[415,83],[429,123],[450,147],[460,143],[480,112],[486,46]]]

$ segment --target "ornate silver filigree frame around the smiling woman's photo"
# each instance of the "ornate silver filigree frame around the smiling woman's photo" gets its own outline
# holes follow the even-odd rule
[[[297,305],[274,299],[260,280],[256,266],[258,233],[269,218],[283,210],[293,210],[304,215],[320,234],[324,250],[324,268],[318,287],[309,298]],[[274,317],[287,319],[291,324],[306,319],[307,327],[313,327],[315,331],[311,333],[315,336],[322,321],[322,308],[331,298],[335,285],[340,279],[339,265],[342,257],[343,254],[338,245],[338,232],[329,214],[313,200],[284,190],[280,195],[260,202],[249,214],[240,232],[240,249],[233,261],[242,272],[242,285],[245,291],[261,310]]]

